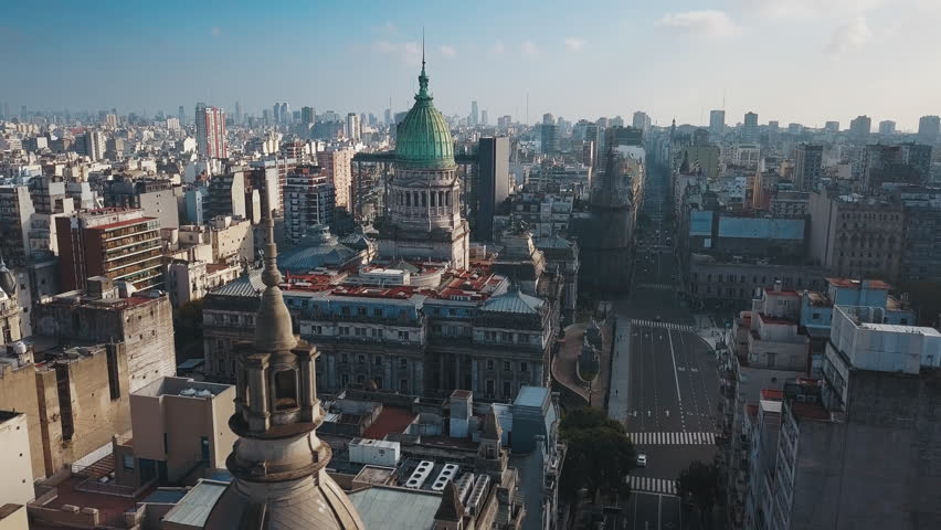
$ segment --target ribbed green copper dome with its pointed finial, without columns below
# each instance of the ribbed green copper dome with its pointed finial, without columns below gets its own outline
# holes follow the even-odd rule
[[[422,61],[415,105],[399,124],[395,160],[406,168],[446,169],[454,167],[454,140],[444,116],[432,104],[429,77]]]

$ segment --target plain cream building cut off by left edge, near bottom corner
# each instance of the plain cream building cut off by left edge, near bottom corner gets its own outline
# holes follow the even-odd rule
[[[25,414],[0,410],[0,506],[25,505],[35,498],[28,433]]]

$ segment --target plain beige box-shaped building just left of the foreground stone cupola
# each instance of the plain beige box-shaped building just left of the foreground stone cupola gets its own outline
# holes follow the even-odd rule
[[[175,483],[224,468],[236,439],[229,428],[234,400],[234,386],[187,378],[161,378],[133,393],[134,438],[115,444],[118,484]]]

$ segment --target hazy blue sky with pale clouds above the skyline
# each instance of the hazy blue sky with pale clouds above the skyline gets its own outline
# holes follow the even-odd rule
[[[408,108],[490,121],[647,112],[822,126],[941,114],[941,0],[49,1],[0,9],[0,103],[176,113]],[[277,6],[277,7],[275,7]]]

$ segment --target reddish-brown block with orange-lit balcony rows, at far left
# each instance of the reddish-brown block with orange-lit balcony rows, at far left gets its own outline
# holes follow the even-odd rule
[[[55,218],[63,290],[92,276],[125,280],[138,290],[163,283],[160,221],[142,210],[102,209]]]

